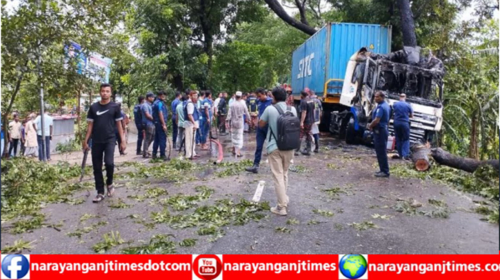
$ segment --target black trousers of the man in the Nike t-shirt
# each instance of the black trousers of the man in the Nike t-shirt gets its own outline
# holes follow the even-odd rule
[[[113,183],[115,143],[92,143],[92,168],[94,169],[95,189],[104,194],[103,159],[106,166],[106,185]]]

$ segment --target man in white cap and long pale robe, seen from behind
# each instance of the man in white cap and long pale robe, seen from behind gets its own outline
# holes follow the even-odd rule
[[[246,115],[247,121],[250,120],[250,113],[245,101],[241,99],[243,93],[237,91],[236,100],[229,106],[228,118],[226,119],[226,127],[231,123],[231,140],[232,140],[232,154],[241,157],[241,148],[243,148],[243,115]]]

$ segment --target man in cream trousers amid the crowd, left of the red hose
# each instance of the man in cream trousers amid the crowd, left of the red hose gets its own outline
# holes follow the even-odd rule
[[[196,101],[198,99],[198,94],[196,91],[191,90],[190,99],[186,102],[186,105],[183,107],[184,116],[187,116],[184,119],[184,132],[186,134],[186,159],[197,159],[199,158],[194,151],[194,135],[199,127],[199,112],[196,107]]]

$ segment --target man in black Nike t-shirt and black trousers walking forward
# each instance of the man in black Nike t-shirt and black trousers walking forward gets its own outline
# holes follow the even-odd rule
[[[125,135],[121,120],[123,119],[120,107],[117,103],[111,102],[111,85],[109,83],[101,84],[101,101],[93,103],[87,114],[88,128],[83,150],[88,149],[88,140],[92,137],[92,167],[94,168],[95,188],[97,197],[93,200],[95,203],[104,199],[104,178],[103,178],[103,157],[104,166],[106,166],[106,186],[108,188],[108,197],[114,194],[113,172],[114,172],[114,146],[116,139],[115,128],[121,138],[120,150],[126,148]]]

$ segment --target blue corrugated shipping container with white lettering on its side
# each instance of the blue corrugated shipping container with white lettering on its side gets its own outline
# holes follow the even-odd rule
[[[309,88],[318,96],[340,94],[347,63],[360,48],[388,54],[391,27],[364,23],[329,23],[292,54],[292,90]]]

